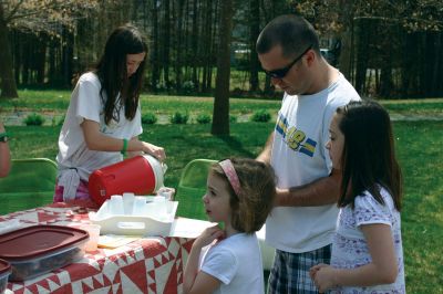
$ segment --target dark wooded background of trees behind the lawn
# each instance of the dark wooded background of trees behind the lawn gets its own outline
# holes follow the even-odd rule
[[[150,42],[147,91],[213,95],[225,66],[225,77],[247,81],[230,94],[269,97],[255,43],[285,13],[312,22],[326,56],[363,96],[443,96],[441,0],[0,0],[1,97],[17,86],[72,88],[126,22]]]

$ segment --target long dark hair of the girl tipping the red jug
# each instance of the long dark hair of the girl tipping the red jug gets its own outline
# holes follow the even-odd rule
[[[125,24],[115,29],[107,38],[104,53],[94,72],[102,84],[100,95],[104,103],[104,118],[120,120],[120,108],[124,106],[125,117],[132,120],[138,107],[138,97],[145,70],[145,60],[137,71],[127,76],[126,55],[147,53],[147,45],[140,31]],[[103,93],[106,94],[104,98]],[[120,93],[120,101],[117,96]]]

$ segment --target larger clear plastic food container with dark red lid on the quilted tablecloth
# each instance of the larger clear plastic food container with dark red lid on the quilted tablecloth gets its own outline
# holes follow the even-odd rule
[[[70,227],[28,227],[0,235],[0,259],[11,264],[9,281],[23,281],[82,259],[87,240]]]

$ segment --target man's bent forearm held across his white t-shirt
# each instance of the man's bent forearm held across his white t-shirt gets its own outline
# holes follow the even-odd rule
[[[310,183],[278,189],[276,207],[317,207],[336,203],[340,193],[341,172],[332,169],[328,177]]]

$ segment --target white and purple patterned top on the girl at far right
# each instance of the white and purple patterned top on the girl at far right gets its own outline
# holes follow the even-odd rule
[[[371,262],[368,243],[360,229],[362,224],[384,223],[391,227],[392,239],[399,266],[393,284],[370,287],[340,287],[331,293],[405,293],[403,248],[401,238],[400,212],[385,189],[380,191],[384,206],[365,191],[356,198],[354,209],[347,206],[340,210],[337,233],[332,242],[331,265],[339,269],[356,269]]]

